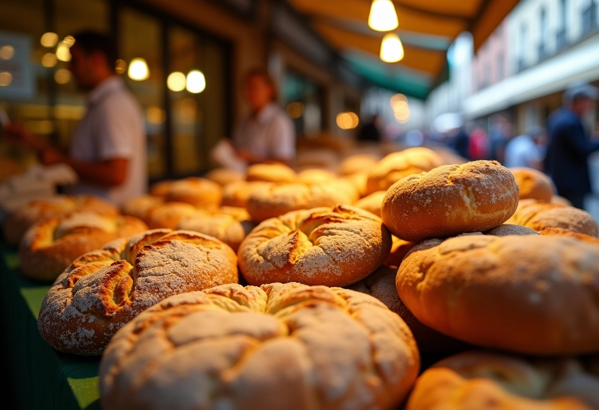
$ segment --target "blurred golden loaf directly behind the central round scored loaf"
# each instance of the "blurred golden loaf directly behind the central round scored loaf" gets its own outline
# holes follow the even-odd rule
[[[355,186],[344,179],[313,184],[273,183],[267,189],[250,191],[246,207],[252,219],[261,222],[292,210],[350,205],[358,197]]]

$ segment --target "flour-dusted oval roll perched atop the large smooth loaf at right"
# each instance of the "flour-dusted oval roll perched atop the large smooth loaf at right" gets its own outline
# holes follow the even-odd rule
[[[443,165],[406,177],[385,195],[383,222],[400,239],[486,231],[501,225],[518,206],[518,185],[497,161]]]

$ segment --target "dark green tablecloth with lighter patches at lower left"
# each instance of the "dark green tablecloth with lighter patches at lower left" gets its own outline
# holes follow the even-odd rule
[[[62,354],[37,328],[40,306],[50,289],[23,278],[15,249],[0,248],[3,397],[15,409],[99,409],[99,357]]]

